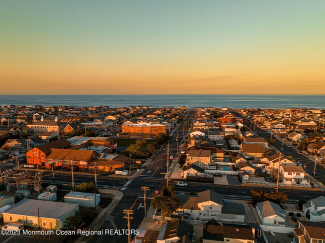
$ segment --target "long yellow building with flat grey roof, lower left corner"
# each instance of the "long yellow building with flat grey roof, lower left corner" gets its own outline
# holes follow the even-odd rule
[[[77,212],[78,204],[24,199],[3,212],[3,223],[57,230],[64,227],[66,219]]]

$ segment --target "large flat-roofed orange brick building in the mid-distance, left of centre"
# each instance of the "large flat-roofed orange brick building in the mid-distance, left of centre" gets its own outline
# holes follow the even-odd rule
[[[123,124],[122,134],[124,138],[154,138],[158,133],[166,133],[166,126],[160,124]]]

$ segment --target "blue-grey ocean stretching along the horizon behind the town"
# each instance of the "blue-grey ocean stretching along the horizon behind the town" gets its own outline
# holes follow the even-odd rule
[[[325,109],[325,95],[0,95],[2,105]]]

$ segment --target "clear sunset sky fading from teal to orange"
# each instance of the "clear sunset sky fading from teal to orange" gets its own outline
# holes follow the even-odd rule
[[[325,94],[324,0],[0,0],[0,95]]]

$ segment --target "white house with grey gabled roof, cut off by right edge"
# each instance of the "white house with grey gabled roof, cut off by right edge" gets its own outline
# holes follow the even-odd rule
[[[325,197],[319,196],[307,201],[302,206],[302,211],[310,214],[310,221],[325,221]]]

